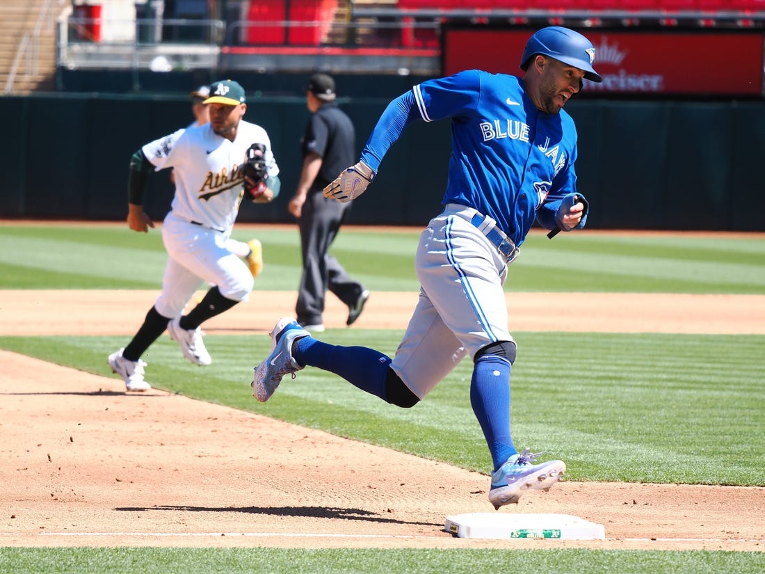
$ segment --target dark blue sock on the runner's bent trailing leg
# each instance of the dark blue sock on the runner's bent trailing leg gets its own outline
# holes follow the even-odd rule
[[[368,347],[340,347],[312,337],[298,339],[292,357],[301,365],[328,370],[367,393],[387,400],[390,357]]]

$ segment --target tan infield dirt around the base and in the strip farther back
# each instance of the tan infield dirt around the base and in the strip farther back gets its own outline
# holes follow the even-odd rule
[[[0,295],[0,334],[127,337],[156,293]],[[294,296],[259,292],[205,330],[265,334]],[[402,328],[415,298],[373,293],[358,328]],[[508,305],[516,331],[765,333],[759,295],[514,293]],[[327,326],[344,319],[330,302]],[[765,488],[675,484],[564,481],[500,510],[574,514],[604,524],[607,540],[455,539],[447,515],[493,511],[486,475],[158,390],[125,394],[118,377],[0,360],[0,546],[765,550]]]

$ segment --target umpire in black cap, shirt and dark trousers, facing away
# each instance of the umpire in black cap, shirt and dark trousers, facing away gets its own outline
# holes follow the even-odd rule
[[[356,159],[353,122],[335,103],[334,80],[317,73],[308,82],[306,94],[311,119],[301,140],[303,167],[298,190],[289,202],[289,212],[300,227],[303,275],[295,313],[307,331],[324,331],[324,300],[327,290],[348,306],[347,325],[359,317],[369,291],[348,276],[329,252],[350,203],[324,197],[324,187]]]

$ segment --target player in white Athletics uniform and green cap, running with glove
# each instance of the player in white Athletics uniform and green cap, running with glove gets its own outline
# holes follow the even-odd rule
[[[109,366],[129,391],[148,390],[142,355],[168,330],[194,364],[209,365],[200,325],[239,302],[247,301],[254,279],[246,264],[226,249],[243,198],[268,203],[278,194],[278,165],[269,135],[246,122],[245,92],[239,83],[220,80],[204,100],[210,122],[180,129],[144,145],[132,157],[128,183],[128,225],[148,232],[155,227],[142,207],[150,171],[174,168],[175,194],[164,218],[162,240],[168,251],[162,290],[138,332],[125,347],[109,355]],[[249,149],[262,151],[262,181],[246,178],[243,162]],[[207,282],[210,290],[187,315],[184,308]]]

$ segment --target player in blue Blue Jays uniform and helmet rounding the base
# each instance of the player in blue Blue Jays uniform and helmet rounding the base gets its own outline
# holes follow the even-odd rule
[[[474,363],[470,404],[493,461],[491,504],[517,503],[522,491],[547,490],[558,481],[562,461],[536,462],[539,455],[529,448],[518,452],[511,437],[516,342],[503,285],[535,221],[550,230],[584,227],[588,204],[576,189],[577,133],[562,108],[584,79],[602,81],[594,56],[581,34],[542,28],[526,43],[522,78],[466,70],[420,83],[389,104],[360,161],[324,194],[355,199],[406,126],[451,118],[444,210],[420,238],[415,267],[421,290],[404,338],[390,359],[366,347],[317,341],[282,318],[272,331],[272,353],[255,370],[256,399],[268,400],[282,377],[311,365],[409,408],[467,355]]]

